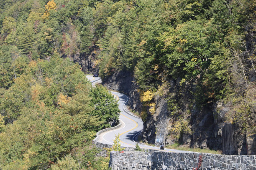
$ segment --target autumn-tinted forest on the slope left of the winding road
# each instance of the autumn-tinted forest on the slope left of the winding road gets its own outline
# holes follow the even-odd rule
[[[79,15],[88,2],[0,4],[0,169],[108,169],[92,139],[117,123],[118,104],[72,60],[93,43]]]

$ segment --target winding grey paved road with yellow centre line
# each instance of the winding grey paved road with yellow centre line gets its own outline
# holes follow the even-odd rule
[[[100,77],[92,77],[92,75],[86,75],[86,77],[92,82],[92,86],[95,86],[95,83],[101,83]],[[115,130],[110,130],[105,133],[102,133],[99,136],[99,142],[105,143],[105,144],[113,144],[113,140],[115,139],[115,135],[118,135],[120,133],[120,142],[121,146],[123,147],[133,147],[135,148],[136,145],[136,137],[141,131],[143,130],[143,121],[141,118],[134,116],[131,112],[129,112],[125,105],[128,102],[128,97],[122,93],[119,92],[111,92],[113,95],[116,96],[116,98],[119,100],[119,109],[120,117],[119,120],[122,123],[121,127]],[[174,150],[174,149],[164,149],[160,150],[159,147],[149,146],[149,145],[143,145],[141,143],[138,143],[140,148],[145,149],[154,149],[159,151],[165,151],[165,152],[176,152],[176,153],[191,153],[189,151],[182,151],[182,150]]]

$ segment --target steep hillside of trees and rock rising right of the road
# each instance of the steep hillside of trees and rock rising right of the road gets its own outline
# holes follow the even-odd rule
[[[143,141],[256,154],[255,0],[103,1],[93,19],[100,76],[132,90]]]

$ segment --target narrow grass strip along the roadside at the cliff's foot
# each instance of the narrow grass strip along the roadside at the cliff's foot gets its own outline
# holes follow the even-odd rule
[[[177,150],[185,150],[185,151],[198,152],[198,153],[222,154],[222,151],[220,151],[220,150],[190,148],[188,146],[180,145],[179,143],[174,143],[172,145],[167,145],[165,148],[177,149]]]

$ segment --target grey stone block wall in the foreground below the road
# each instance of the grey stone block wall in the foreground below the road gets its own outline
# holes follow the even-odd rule
[[[111,152],[109,166],[112,170],[256,170],[256,155]]]

